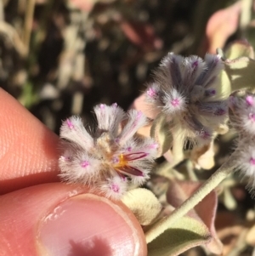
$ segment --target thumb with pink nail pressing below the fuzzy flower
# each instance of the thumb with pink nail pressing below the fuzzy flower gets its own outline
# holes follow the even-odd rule
[[[147,253],[144,233],[121,202],[60,183],[0,197],[4,255],[114,256]]]

